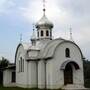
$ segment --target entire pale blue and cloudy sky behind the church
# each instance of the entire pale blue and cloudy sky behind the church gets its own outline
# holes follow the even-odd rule
[[[20,43],[30,42],[33,23],[43,15],[43,0],[0,0],[0,57],[14,62]],[[70,39],[90,60],[90,0],[46,0],[46,15],[53,22],[53,38]]]

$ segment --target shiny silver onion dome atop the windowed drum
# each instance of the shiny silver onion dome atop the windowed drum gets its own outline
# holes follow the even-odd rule
[[[43,17],[36,23],[36,28],[39,27],[49,27],[49,28],[53,28],[53,23],[51,21],[48,20],[48,18],[46,17],[46,15],[44,14]]]

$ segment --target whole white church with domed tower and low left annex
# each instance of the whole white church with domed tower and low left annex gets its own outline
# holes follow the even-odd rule
[[[45,11],[44,8],[43,16],[35,24],[37,37],[33,28],[31,43],[21,42],[17,46],[15,65],[4,70],[3,84],[23,88],[83,89],[82,51],[72,40],[52,38],[54,25]],[[14,82],[12,75],[16,77]]]

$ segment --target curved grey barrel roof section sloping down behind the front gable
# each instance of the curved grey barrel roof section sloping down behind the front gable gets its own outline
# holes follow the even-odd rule
[[[39,53],[39,57],[51,58],[54,54],[56,46],[63,41],[64,39],[61,38],[51,40],[50,42],[47,43],[47,45],[44,48],[42,48],[42,50]]]

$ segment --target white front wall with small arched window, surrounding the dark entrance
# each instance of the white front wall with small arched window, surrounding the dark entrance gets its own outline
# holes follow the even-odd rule
[[[65,49],[70,49],[70,58],[65,57]],[[61,88],[64,85],[64,73],[60,70],[63,62],[67,60],[74,60],[80,66],[80,70],[73,72],[74,84],[84,84],[83,79],[83,64],[81,53],[78,48],[71,43],[64,43],[56,48],[54,58],[47,62],[47,87]]]

